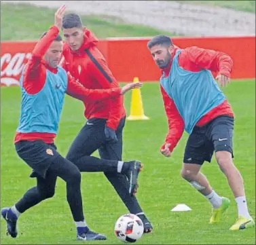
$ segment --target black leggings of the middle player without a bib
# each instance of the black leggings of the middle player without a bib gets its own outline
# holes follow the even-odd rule
[[[125,118],[121,119],[116,130],[117,143],[106,142],[105,119],[89,119],[89,125],[81,128],[73,141],[67,159],[73,162],[81,172],[103,171],[111,185],[132,214],[143,212],[136,197],[129,193],[129,183],[124,174],[117,173],[117,161],[122,161],[123,128]],[[98,149],[100,158],[90,156]]]

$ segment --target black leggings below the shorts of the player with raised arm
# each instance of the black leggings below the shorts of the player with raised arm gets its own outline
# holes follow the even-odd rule
[[[19,212],[39,204],[39,202],[54,196],[57,176],[67,183],[67,201],[74,221],[84,221],[83,204],[81,200],[81,174],[77,166],[61,155],[53,160],[46,172],[45,178],[37,176],[37,186],[32,187],[17,202]]]

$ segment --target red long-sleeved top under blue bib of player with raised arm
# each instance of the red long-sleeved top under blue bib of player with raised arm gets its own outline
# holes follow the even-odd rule
[[[52,41],[58,36],[59,30],[56,26],[52,26],[48,33],[39,40],[37,45],[32,52],[31,59],[26,64],[24,70],[23,78],[23,88],[28,94],[37,94],[43,88],[46,81],[46,70],[51,71],[52,73],[57,73],[58,68],[50,67],[43,56],[48,50]],[[77,83],[70,75],[68,75],[67,91],[66,93],[70,96],[77,98],[79,100],[95,101],[102,100],[106,98],[112,98],[115,96],[120,96],[121,88],[115,88],[110,90],[88,90]],[[43,140],[45,143],[53,143],[56,134],[50,133],[21,133],[16,132],[14,143],[17,143],[20,140]]]

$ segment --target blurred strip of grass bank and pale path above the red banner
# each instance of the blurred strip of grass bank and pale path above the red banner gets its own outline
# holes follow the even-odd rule
[[[60,3],[98,37],[255,35],[255,1],[1,1],[1,40],[37,39]]]

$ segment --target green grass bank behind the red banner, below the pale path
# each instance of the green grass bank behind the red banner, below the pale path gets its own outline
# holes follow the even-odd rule
[[[55,12],[54,9],[24,3],[1,3],[1,41],[39,39],[54,24]],[[126,24],[110,16],[82,15],[81,20],[98,38],[151,37],[160,34],[174,36],[149,26]]]

